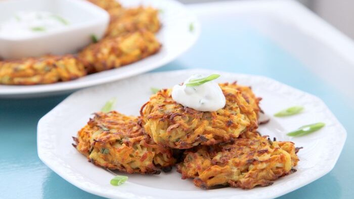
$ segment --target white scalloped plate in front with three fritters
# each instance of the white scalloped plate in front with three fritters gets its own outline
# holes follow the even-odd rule
[[[218,82],[233,82],[252,86],[261,96],[261,107],[271,122],[260,127],[263,135],[303,146],[298,156],[297,172],[275,181],[268,187],[251,190],[219,188],[202,190],[191,180],[182,180],[175,170],[160,175],[128,175],[121,186],[110,185],[112,174],[87,162],[71,146],[71,136],[101,109],[111,97],[117,97],[116,110],[138,115],[140,107],[149,99],[150,87],[166,88],[182,82],[188,76],[219,73]],[[299,115],[274,118],[279,110],[294,105],[305,107]],[[293,138],[286,132],[302,125],[325,122],[326,126],[312,134]],[[346,131],[327,106],[316,96],[297,90],[273,79],[261,76],[224,73],[208,70],[182,70],[144,74],[129,79],[83,89],[40,119],[37,131],[39,158],[53,171],[73,185],[93,194],[110,198],[273,198],[304,186],[328,173],[335,165],[346,139]],[[124,174],[123,174],[124,175]]]

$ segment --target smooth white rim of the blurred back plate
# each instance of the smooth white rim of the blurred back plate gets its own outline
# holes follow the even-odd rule
[[[127,1],[127,0],[125,0],[125,1]],[[138,1],[136,1],[136,2],[138,2]],[[0,85],[0,98],[1,97],[5,97],[5,98],[6,97],[16,97],[16,96],[21,97],[21,95],[31,95],[32,96],[33,94],[44,94],[44,93],[48,93],[48,95],[50,95],[50,93],[65,92],[65,91],[77,90],[80,88],[91,87],[91,86],[100,85],[103,83],[109,83],[112,81],[125,79],[125,78],[132,77],[135,75],[139,75],[139,74],[151,71],[153,69],[157,69],[159,67],[162,67],[163,65],[168,64],[169,62],[175,60],[177,57],[181,56],[183,53],[185,53],[189,48],[191,48],[195,44],[195,42],[197,41],[197,39],[200,36],[201,24],[200,24],[199,20],[197,19],[197,17],[192,12],[190,12],[184,4],[182,4],[176,0],[145,0],[145,1],[141,1],[141,3],[145,3],[148,5],[150,3],[154,3],[154,2],[155,3],[158,2],[159,4],[164,4],[169,7],[179,9],[180,11],[184,11],[186,14],[185,17],[188,18],[190,23],[193,24],[194,29],[193,29],[193,33],[191,34],[193,36],[191,37],[190,42],[187,42],[183,47],[180,47],[179,52],[174,53],[172,56],[166,55],[166,56],[162,57],[161,59],[150,63],[148,66],[144,66],[143,68],[139,68],[139,70],[132,70],[132,69],[127,70],[127,69],[129,67],[135,66],[136,63],[142,63],[142,62],[146,61],[147,59],[152,58],[155,55],[152,55],[148,58],[137,61],[135,63],[128,64],[128,65],[120,67],[120,68],[115,68],[115,69],[111,69],[108,71],[102,71],[102,72],[87,75],[84,77],[89,77],[89,76],[97,75],[97,74],[101,74],[101,73],[115,72],[115,71],[119,71],[122,68],[127,70],[124,73],[120,73],[119,76],[116,76],[116,74],[111,74],[111,75],[106,75],[104,77],[97,77],[95,79],[81,81],[82,78],[84,78],[84,77],[82,77],[82,78],[78,78],[78,79],[75,79],[72,81],[67,81],[67,82],[57,82],[57,83],[53,83],[53,84],[40,84],[40,85]],[[163,43],[162,43],[162,45],[163,45]],[[158,53],[156,55],[158,55]]]

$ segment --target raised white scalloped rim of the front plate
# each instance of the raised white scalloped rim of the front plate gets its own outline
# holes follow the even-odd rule
[[[251,198],[251,197],[255,197],[257,196],[257,198],[273,198],[273,197],[278,197],[281,195],[284,195],[286,193],[289,193],[293,190],[296,190],[306,184],[309,184],[317,179],[319,179],[320,177],[324,176],[325,174],[329,173],[333,167],[335,166],[340,153],[342,151],[342,148],[344,146],[345,140],[346,140],[346,136],[347,136],[347,132],[345,130],[345,128],[342,126],[342,124],[337,120],[337,118],[332,114],[332,112],[329,110],[329,108],[325,105],[325,103],[317,96],[301,91],[297,88],[291,87],[289,85],[286,85],[284,83],[281,83],[277,80],[274,80],[272,78],[269,77],[264,77],[264,76],[259,76],[259,75],[248,75],[248,74],[237,74],[237,73],[229,73],[229,72],[221,72],[221,71],[216,71],[216,70],[204,70],[204,69],[191,69],[191,70],[176,70],[176,71],[166,71],[166,72],[156,72],[156,73],[146,73],[146,74],[142,74],[136,77],[131,77],[131,78],[142,78],[145,76],[150,76],[150,77],[161,77],[161,76],[166,76],[168,75],[182,75],[182,74],[188,74],[188,73],[218,73],[222,76],[227,76],[227,77],[234,77],[234,78],[242,78],[242,77],[247,77],[247,78],[251,78],[252,81],[262,81],[264,83],[268,83],[268,84],[277,84],[277,90],[291,90],[292,93],[298,95],[298,96],[304,96],[307,95],[308,97],[311,98],[311,101],[313,103],[316,103],[319,107],[321,107],[321,111],[323,111],[323,113],[325,113],[326,118],[332,121],[332,127],[336,129],[336,135],[330,137],[331,138],[331,142],[332,145],[336,146],[336,147],[332,147],[331,148],[331,156],[328,157],[324,157],[325,161],[322,161],[321,163],[325,165],[318,165],[321,167],[321,169],[316,169],[315,173],[311,174],[311,177],[305,177],[305,178],[297,178],[296,179],[296,185],[293,186],[286,186],[286,187],[282,187],[281,190],[277,190],[273,191],[272,195],[259,195],[256,193],[251,193],[251,191],[247,191],[247,198]],[[125,79],[122,81],[129,81],[129,79]],[[67,180],[68,182],[70,182],[71,184],[75,185],[76,187],[86,191],[86,192],[90,192],[96,195],[100,195],[100,196],[104,196],[104,197],[110,197],[110,198],[116,198],[117,195],[119,195],[119,198],[126,198],[126,199],[131,199],[131,198],[155,198],[154,196],[140,196],[140,195],[135,195],[134,193],[130,193],[124,190],[115,190],[114,192],[111,191],[109,188],[106,187],[102,187],[100,185],[94,184],[92,182],[85,182],[85,184],[83,184],[82,182],[78,182],[77,181],[77,177],[75,177],[75,175],[77,176],[77,174],[73,173],[73,170],[70,170],[70,168],[64,168],[64,167],[57,167],[57,165],[65,163],[65,161],[63,161],[62,159],[58,159],[55,155],[55,151],[53,151],[53,147],[49,146],[48,144],[45,144],[43,142],[45,142],[45,140],[49,140],[49,139],[53,139],[56,135],[51,135],[48,134],[48,132],[46,132],[46,130],[43,130],[45,128],[43,128],[43,126],[46,126],[44,124],[47,123],[48,118],[52,115],[52,114],[56,114],[57,110],[59,109],[58,107],[62,106],[64,103],[73,100],[76,95],[80,95],[81,93],[85,93],[87,91],[90,90],[95,90],[95,89],[99,89],[100,87],[105,87],[106,85],[111,85],[111,84],[119,84],[119,82],[122,81],[117,81],[117,82],[112,82],[109,84],[104,84],[104,85],[98,85],[95,87],[90,87],[90,88],[86,88],[86,89],[82,89],[79,91],[76,91],[74,93],[72,93],[71,95],[69,95],[63,102],[61,102],[59,105],[57,105],[53,110],[51,110],[49,113],[47,113],[45,116],[43,116],[37,125],[37,153],[38,153],[38,157],[39,159],[45,163],[49,168],[51,168],[54,172],[56,172],[58,175],[60,175],[62,178],[64,178],[65,180]],[[280,92],[280,91],[279,91]],[[333,144],[334,143],[334,144]],[[324,150],[328,150],[328,148],[324,148]],[[152,191],[154,191],[156,188],[151,188]],[[98,191],[100,190],[100,191]],[[252,189],[251,189],[252,190]],[[254,190],[254,189],[253,189]],[[188,193],[190,191],[183,191],[183,190],[168,190],[170,191],[170,194],[174,194],[174,193]],[[207,191],[207,190],[206,190]],[[261,190],[259,190],[258,192],[262,192]],[[164,198],[166,195],[163,195],[161,198]],[[210,196],[210,197],[209,197]],[[215,197],[220,197],[220,196],[215,196],[214,194],[209,194],[209,196],[205,197],[205,198],[215,198]],[[239,198],[239,196],[245,196],[243,195],[226,195],[226,196],[222,196],[222,198]],[[160,197],[159,197],[160,198]],[[186,198],[190,198],[190,197],[186,197]]]

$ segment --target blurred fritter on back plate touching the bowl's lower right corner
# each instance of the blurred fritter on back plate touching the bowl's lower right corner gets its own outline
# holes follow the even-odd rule
[[[161,44],[149,31],[105,38],[80,52],[79,58],[89,73],[100,72],[139,61],[159,51]]]

